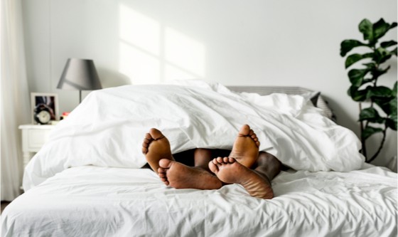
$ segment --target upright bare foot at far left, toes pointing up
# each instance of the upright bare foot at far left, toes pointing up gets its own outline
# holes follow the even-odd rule
[[[145,135],[144,142],[142,142],[142,153],[145,154],[146,161],[156,173],[159,168],[159,160],[174,160],[168,139],[156,128],[151,128]]]

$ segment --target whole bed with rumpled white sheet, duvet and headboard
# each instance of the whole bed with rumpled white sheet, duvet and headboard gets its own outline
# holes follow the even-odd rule
[[[365,164],[333,119],[303,88],[189,80],[94,91],[29,162],[1,236],[397,236],[397,174]],[[230,149],[244,123],[289,167],[271,181],[274,199],[239,184],[173,189],[142,168],[151,127],[176,153]]]

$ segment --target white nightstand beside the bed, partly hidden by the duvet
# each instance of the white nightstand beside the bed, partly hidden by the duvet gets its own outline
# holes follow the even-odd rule
[[[48,140],[48,135],[55,125],[20,125],[22,130],[23,169]]]

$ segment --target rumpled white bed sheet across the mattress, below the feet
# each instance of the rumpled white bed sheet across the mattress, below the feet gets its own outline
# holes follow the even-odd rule
[[[281,172],[275,198],[238,184],[173,189],[149,169],[73,167],[19,196],[1,236],[397,236],[397,174]]]

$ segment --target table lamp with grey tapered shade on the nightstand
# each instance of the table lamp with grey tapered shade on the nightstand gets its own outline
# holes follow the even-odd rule
[[[68,58],[58,89],[79,90],[79,103],[82,102],[82,90],[102,89],[95,70],[94,61],[90,59]]]

